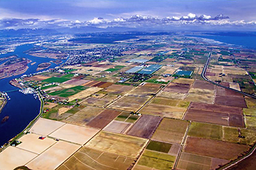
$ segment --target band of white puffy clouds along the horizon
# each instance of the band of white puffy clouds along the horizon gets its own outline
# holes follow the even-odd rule
[[[74,28],[74,27],[168,27],[168,26],[232,26],[232,27],[248,27],[256,26],[256,21],[245,22],[244,20],[230,20],[228,16],[217,15],[212,17],[210,15],[196,15],[188,13],[181,17],[165,17],[159,19],[158,17],[146,15],[132,15],[129,18],[119,17],[113,20],[103,19],[101,17],[92,20],[40,20],[40,19],[9,19],[4,18],[0,20],[0,29],[24,29],[24,28]]]

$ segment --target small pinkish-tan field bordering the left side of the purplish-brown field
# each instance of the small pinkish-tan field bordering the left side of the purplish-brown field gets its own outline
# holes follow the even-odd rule
[[[127,130],[127,128],[129,128],[131,125],[131,123],[114,120],[109,123],[109,125],[107,125],[104,130],[124,134],[125,130]]]

